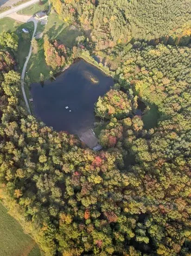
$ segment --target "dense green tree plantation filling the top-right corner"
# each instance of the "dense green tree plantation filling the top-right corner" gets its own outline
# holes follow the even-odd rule
[[[97,50],[132,40],[172,45],[191,42],[189,0],[53,0],[52,4],[61,19],[92,31]]]

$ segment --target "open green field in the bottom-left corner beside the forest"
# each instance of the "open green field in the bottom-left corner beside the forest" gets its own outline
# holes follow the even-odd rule
[[[0,256],[40,256],[38,245],[0,202]]]

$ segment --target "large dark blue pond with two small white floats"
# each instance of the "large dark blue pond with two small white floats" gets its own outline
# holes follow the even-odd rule
[[[99,82],[92,83],[87,72]],[[34,114],[57,131],[79,134],[93,127],[95,103],[113,85],[113,78],[79,60],[57,76],[56,81],[45,81],[44,87],[40,83],[31,85]]]

